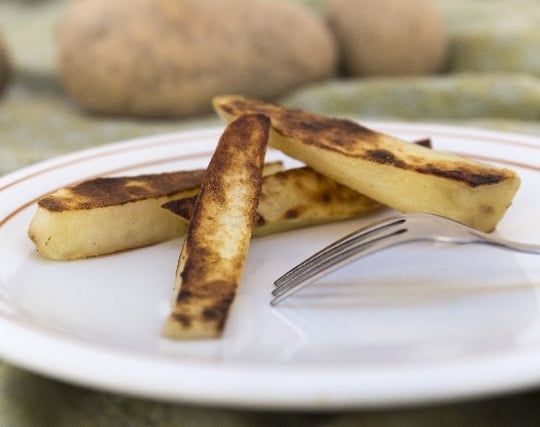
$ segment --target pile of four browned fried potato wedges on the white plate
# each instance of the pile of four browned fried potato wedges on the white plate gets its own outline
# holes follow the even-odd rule
[[[392,208],[493,231],[519,177],[356,122],[242,96],[214,99],[228,123],[207,169],[98,178],[38,201],[28,234],[72,260],[184,235],[163,336],[223,334],[253,235]],[[300,160],[265,163],[267,146]]]

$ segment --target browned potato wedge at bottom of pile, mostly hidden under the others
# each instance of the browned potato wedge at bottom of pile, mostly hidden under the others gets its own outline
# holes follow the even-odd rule
[[[173,200],[164,208],[191,220],[196,196]],[[263,178],[254,236],[367,215],[380,203],[341,185],[310,167],[276,172]]]

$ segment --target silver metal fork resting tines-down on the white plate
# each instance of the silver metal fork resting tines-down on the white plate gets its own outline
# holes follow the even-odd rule
[[[345,264],[386,248],[416,241],[477,243],[540,254],[540,245],[513,242],[434,214],[405,214],[356,230],[301,262],[274,282],[276,287],[270,304],[279,304]]]

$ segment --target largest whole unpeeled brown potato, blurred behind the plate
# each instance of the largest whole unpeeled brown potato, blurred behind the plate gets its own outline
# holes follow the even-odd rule
[[[323,20],[275,0],[77,0],[58,52],[84,108],[145,117],[209,112],[225,93],[278,97],[337,63]]]

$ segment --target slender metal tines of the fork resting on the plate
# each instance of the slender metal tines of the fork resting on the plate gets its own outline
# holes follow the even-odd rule
[[[406,231],[406,228],[401,227],[405,221],[404,218],[399,217],[381,221],[348,234],[320,250],[274,282],[276,288],[272,294],[275,298],[271,301],[271,304],[278,304],[312,281],[330,273],[346,262],[352,261],[351,258],[360,252],[364,256],[388,246],[386,241],[388,237]],[[398,228],[395,226],[398,226]]]

